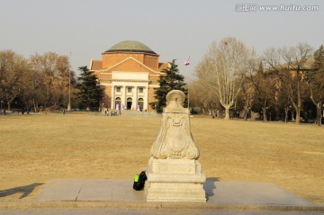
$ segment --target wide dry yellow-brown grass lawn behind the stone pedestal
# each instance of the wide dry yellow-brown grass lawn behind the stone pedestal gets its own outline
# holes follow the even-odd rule
[[[147,166],[159,124],[158,118],[0,116],[0,201],[31,201],[42,187],[35,183],[56,178],[132,178]],[[207,177],[271,182],[324,204],[323,126],[198,117],[191,124]]]

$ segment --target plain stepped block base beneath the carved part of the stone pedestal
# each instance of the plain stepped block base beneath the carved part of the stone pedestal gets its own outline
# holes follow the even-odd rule
[[[198,160],[151,157],[146,174],[147,202],[206,202],[206,177]]]

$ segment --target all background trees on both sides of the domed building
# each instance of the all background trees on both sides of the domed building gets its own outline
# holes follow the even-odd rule
[[[175,60],[162,71],[156,89],[160,110],[172,89],[190,94],[194,111],[263,121],[311,121],[320,124],[324,104],[324,48],[307,43],[266,49],[258,56],[236,38],[213,41],[194,69],[194,80],[186,85]],[[96,76],[79,67],[71,70],[69,58],[54,52],[30,58],[12,50],[0,51],[1,108],[32,110],[99,107],[103,99]],[[188,102],[186,100],[185,104]],[[253,114],[253,115],[252,115]]]

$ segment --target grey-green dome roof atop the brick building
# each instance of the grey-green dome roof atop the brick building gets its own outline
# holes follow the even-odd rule
[[[105,52],[142,52],[148,54],[157,54],[152,49],[149,49],[147,45],[135,40],[121,41],[113,45],[111,49],[108,49]]]

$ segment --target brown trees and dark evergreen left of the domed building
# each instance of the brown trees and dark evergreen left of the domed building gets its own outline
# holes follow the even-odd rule
[[[76,77],[69,58],[55,52],[23,58],[12,50],[0,51],[0,109],[61,110],[70,100],[75,108],[98,106],[103,89],[87,67],[79,71]]]

